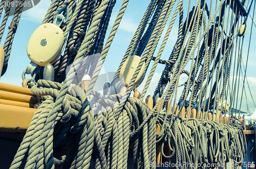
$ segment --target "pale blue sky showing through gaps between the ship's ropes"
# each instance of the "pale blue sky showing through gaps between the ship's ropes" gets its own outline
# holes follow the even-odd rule
[[[196,1],[193,0],[191,2],[193,4],[193,2],[196,2]],[[50,6],[50,3],[51,3],[50,0],[40,1],[39,4],[37,4],[33,8],[31,8],[27,11],[24,11],[22,13],[22,17],[19,21],[17,32],[14,37],[12,51],[11,51],[11,57],[8,62],[8,69],[5,73],[5,75],[3,77],[1,77],[0,82],[21,86],[22,72],[26,69],[27,65],[30,63],[30,60],[27,57],[27,51],[26,51],[29,38],[32,35],[32,33],[35,31],[35,29],[40,26],[41,21],[44,18],[45,14]],[[121,7],[121,3],[122,3],[122,1],[117,1],[116,5],[113,9],[113,13],[111,16],[108,32],[106,33],[106,37],[108,37],[108,35],[110,33],[110,30],[113,26],[115,18],[118,14],[120,7]],[[148,3],[149,3],[149,0],[141,0],[141,1],[130,0],[129,4],[127,6],[127,9],[124,13],[124,16],[122,18],[122,21],[120,23],[119,29],[118,29],[118,31],[115,35],[115,38],[113,40],[113,43],[111,45],[108,56],[106,57],[106,60],[104,62],[104,67],[103,67],[104,71],[113,72],[113,71],[117,70],[117,68],[121,62],[121,59],[124,56],[124,53],[125,53],[127,47],[129,46],[131,39],[133,38],[133,35],[139,25],[139,22],[144,14],[144,11],[146,10]],[[206,1],[206,3],[209,4],[209,2],[207,2],[207,1]],[[187,3],[184,3],[184,16],[186,16],[186,14],[187,14],[187,8],[188,8]],[[253,8],[252,8],[250,14],[251,14],[251,16],[253,15]],[[7,25],[10,25],[11,19],[12,19],[12,16],[10,16],[8,18]],[[1,18],[1,20],[2,20],[2,18]],[[167,21],[167,25],[169,24],[169,20]],[[178,19],[176,19],[176,22],[175,22],[176,25],[174,25],[174,27],[173,27],[171,35],[167,41],[165,50],[161,56],[161,59],[167,60],[170,53],[173,50],[174,43],[177,40],[177,31],[178,31],[177,21],[178,21]],[[248,26],[248,30],[247,30],[247,34],[245,35],[245,41],[244,41],[244,47],[243,47],[243,53],[242,53],[242,58],[243,58],[244,64],[246,63],[248,45],[249,45],[250,28],[251,28],[251,18],[250,17],[248,18],[247,26]],[[165,34],[166,30],[167,29],[165,28],[163,31],[163,34]],[[2,46],[4,45],[7,32],[8,32],[8,29],[5,30],[5,34],[0,43]],[[248,55],[248,64],[247,64],[246,75],[247,75],[248,84],[249,84],[251,92],[252,92],[252,96],[253,96],[254,100],[256,100],[256,57],[255,57],[256,33],[254,33],[254,32],[255,32],[255,26],[253,26],[253,28],[252,28],[252,37],[251,37],[250,50],[249,50],[249,55]],[[162,39],[163,39],[163,37],[161,36],[161,39],[159,40],[159,45],[157,47],[157,50],[156,50],[154,56],[157,55],[157,52],[158,52],[159,46],[162,42]],[[152,66],[152,64],[150,65],[150,67],[151,66]],[[147,94],[153,95],[154,89],[158,83],[158,80],[161,76],[161,72],[162,72],[163,68],[164,68],[163,65],[158,64],[156,73],[153,77],[152,83],[147,91]],[[185,67],[185,69],[186,70],[190,69],[189,63]],[[148,74],[146,74],[146,77],[147,77],[147,75]],[[233,77],[233,74],[231,72],[230,78],[232,78],[232,77]],[[28,78],[30,78],[30,77],[28,76]],[[184,81],[186,81],[186,79],[187,79],[187,77],[185,75],[182,75],[181,79],[180,79],[180,84],[182,84]],[[242,76],[240,76],[240,79],[242,80]],[[143,89],[142,88],[143,84],[144,84],[144,82],[142,82],[142,84],[138,88],[140,91],[142,91],[142,89]],[[103,86],[102,86],[102,88],[103,88]],[[242,84],[240,83],[239,99],[241,98],[241,91],[242,91]],[[246,82],[245,82],[245,91],[246,91],[246,95],[247,95],[249,111],[251,113],[253,113],[253,112],[256,113],[256,109],[252,102]],[[239,108],[239,106],[238,106],[238,108]],[[245,95],[243,95],[241,110],[243,110],[243,111],[247,110]]]

